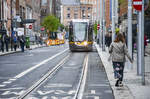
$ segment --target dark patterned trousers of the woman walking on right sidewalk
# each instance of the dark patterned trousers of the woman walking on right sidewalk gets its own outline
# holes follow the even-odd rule
[[[113,62],[114,77],[123,80],[124,62]]]

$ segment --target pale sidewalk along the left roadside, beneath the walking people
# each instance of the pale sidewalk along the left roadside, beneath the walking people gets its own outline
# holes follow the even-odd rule
[[[25,47],[25,50],[32,50],[32,49],[35,49],[35,48],[40,48],[40,47],[44,47],[44,46],[46,46],[45,44],[43,44],[43,45],[30,45],[30,48],[26,48]],[[2,52],[0,52],[0,56],[2,56],[2,55],[7,55],[7,54],[12,54],[12,53],[16,53],[16,52],[21,52],[21,48],[17,48],[17,51],[11,51],[11,49],[9,49],[9,52],[6,52],[6,51],[4,51],[3,53]]]

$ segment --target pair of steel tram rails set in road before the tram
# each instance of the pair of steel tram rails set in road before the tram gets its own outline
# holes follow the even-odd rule
[[[46,73],[40,80],[38,80],[34,85],[32,85],[30,88],[28,88],[23,94],[18,96],[16,99],[25,99],[28,95],[30,95],[34,90],[38,89],[44,82],[46,82],[48,79],[53,77],[53,74],[56,74],[57,71],[60,70],[60,68],[69,61],[69,57],[71,56],[71,53],[69,53],[65,58],[63,58],[62,61],[60,61],[53,69],[49,70],[48,73]],[[79,82],[76,86],[75,94],[73,95],[73,99],[82,99],[84,88],[86,84],[86,77],[87,77],[87,71],[88,71],[88,53],[86,53],[86,56],[84,57],[84,61],[82,64],[82,71],[80,74]]]

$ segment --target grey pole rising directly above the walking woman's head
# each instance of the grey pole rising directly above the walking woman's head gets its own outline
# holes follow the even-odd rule
[[[112,42],[115,40],[115,0],[112,0]]]

